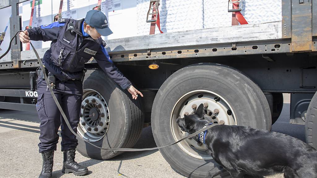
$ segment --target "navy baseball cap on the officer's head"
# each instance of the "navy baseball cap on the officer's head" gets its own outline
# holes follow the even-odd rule
[[[85,17],[85,22],[94,27],[102,36],[108,36],[113,32],[108,27],[108,20],[100,10],[89,10]]]

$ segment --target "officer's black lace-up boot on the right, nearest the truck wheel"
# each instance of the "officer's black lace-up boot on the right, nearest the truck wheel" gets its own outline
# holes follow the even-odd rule
[[[68,149],[64,151],[64,162],[61,172],[73,173],[74,175],[85,175],[88,173],[88,168],[75,162],[75,151],[75,149]]]

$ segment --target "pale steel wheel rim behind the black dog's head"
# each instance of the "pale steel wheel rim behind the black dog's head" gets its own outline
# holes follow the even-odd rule
[[[236,115],[230,104],[223,97],[208,90],[195,90],[184,94],[180,99],[178,99],[173,107],[170,120],[172,135],[175,140],[180,140],[181,138],[189,135],[178,127],[176,119],[179,117],[183,118],[186,112],[188,112],[188,114],[193,114],[196,109],[193,109],[192,105],[196,104],[198,107],[201,103],[208,104],[208,107],[204,108],[205,119],[217,123],[222,120],[224,124],[237,125]],[[218,114],[214,113],[214,109],[218,109]],[[213,118],[213,116],[216,118]],[[194,139],[186,139],[178,143],[178,146],[189,156],[202,160],[212,159],[212,157],[206,152],[206,146],[204,144],[202,146],[198,146]]]

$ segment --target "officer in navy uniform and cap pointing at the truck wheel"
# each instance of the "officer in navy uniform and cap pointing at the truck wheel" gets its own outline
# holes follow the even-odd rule
[[[131,82],[114,66],[106,49],[105,41],[100,37],[113,32],[108,27],[107,17],[99,10],[90,10],[85,19],[60,19],[49,25],[27,29],[20,33],[20,41],[52,41],[51,47],[42,59],[45,71],[39,71],[37,79],[36,109],[41,121],[39,152],[42,153],[43,167],[39,178],[52,176],[53,155],[56,150],[61,126],[61,151],[64,153],[63,173],[85,175],[88,169],[74,161],[76,137],[70,132],[61,117],[48,87],[52,87],[67,119],[77,132],[82,100],[82,81],[84,64],[91,58],[97,61],[100,68],[122,89],[127,89],[133,99],[142,93],[135,89]],[[47,86],[43,72],[49,76]]]

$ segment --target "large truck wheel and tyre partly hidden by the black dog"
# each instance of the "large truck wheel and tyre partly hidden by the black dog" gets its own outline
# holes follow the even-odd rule
[[[200,63],[173,73],[160,87],[152,106],[152,132],[157,146],[180,140],[188,133],[176,119],[195,112],[204,103],[205,119],[215,123],[271,129],[268,101],[248,77],[228,66]],[[187,139],[160,149],[165,160],[179,173],[204,178],[217,163],[204,145]],[[230,177],[223,172],[218,177]]]

